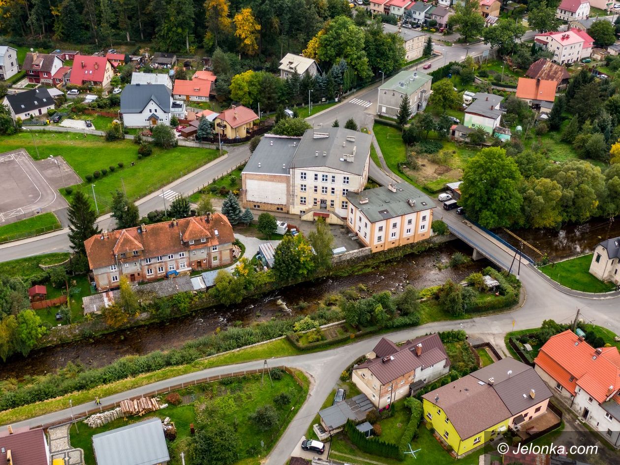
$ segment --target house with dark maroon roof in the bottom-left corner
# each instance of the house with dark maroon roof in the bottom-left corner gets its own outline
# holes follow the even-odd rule
[[[42,428],[0,431],[0,465],[49,465],[50,448]]]

